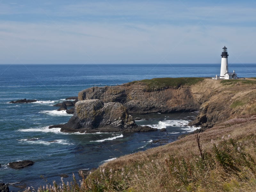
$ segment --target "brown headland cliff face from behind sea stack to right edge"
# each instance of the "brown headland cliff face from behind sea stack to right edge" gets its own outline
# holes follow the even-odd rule
[[[147,89],[143,82],[112,87],[93,87],[79,92],[79,100],[119,102],[128,113],[172,113],[199,110],[190,125],[210,128],[240,115],[256,113],[256,81],[212,80],[193,85]]]

